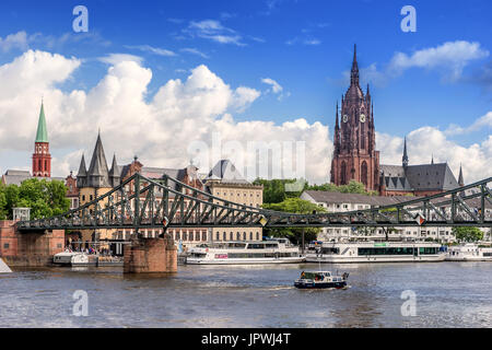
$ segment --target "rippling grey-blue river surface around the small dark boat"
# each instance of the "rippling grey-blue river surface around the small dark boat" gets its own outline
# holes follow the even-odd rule
[[[351,288],[292,287],[302,270],[319,267],[350,272]],[[121,268],[0,275],[0,327],[492,327],[487,261],[178,269],[173,276]],[[86,292],[87,316],[73,315],[78,290]],[[401,299],[406,290],[414,303]],[[402,316],[406,302],[406,314],[415,316]]]

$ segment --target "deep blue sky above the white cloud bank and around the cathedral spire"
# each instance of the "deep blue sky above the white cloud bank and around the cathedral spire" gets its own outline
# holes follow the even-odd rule
[[[86,34],[72,31],[77,4],[89,10]],[[400,30],[400,9],[406,4],[417,10],[415,33]],[[82,65],[58,88],[89,91],[108,69],[102,57],[133,55],[152,70],[148,100],[168,80],[186,80],[190,69],[206,65],[231,86],[261,92],[234,114],[237,121],[282,124],[303,117],[309,124],[328,125],[331,133],[335,104],[348,88],[356,44],[364,90],[371,83],[377,131],[401,138],[423,126],[467,128],[492,110],[490,13],[488,0],[3,0],[0,37],[22,31],[28,39],[27,46],[0,49],[0,65],[27,48],[73,56]],[[429,50],[457,42],[475,43],[478,51],[459,62],[441,55],[436,60],[442,63],[426,60],[397,72],[390,69],[397,52],[432,57]],[[457,72],[453,65],[462,66]],[[273,92],[261,81],[267,78],[282,90]],[[448,138],[469,147],[490,133],[485,125]]]

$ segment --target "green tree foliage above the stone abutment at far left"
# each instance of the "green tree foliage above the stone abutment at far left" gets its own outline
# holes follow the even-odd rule
[[[70,209],[63,182],[30,178],[21,186],[0,186],[0,219],[12,219],[13,208],[31,208],[31,219],[58,215]]]

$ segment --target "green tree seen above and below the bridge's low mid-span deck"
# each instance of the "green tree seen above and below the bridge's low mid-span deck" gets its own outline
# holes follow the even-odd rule
[[[317,205],[313,205],[311,201],[300,198],[286,198],[280,203],[265,203],[265,209],[292,212],[298,214],[308,214],[313,212],[325,212],[326,210]],[[316,240],[321,229],[318,228],[281,228],[281,229],[263,229],[267,235],[273,237],[288,237],[295,244],[302,243],[303,231],[305,242]]]

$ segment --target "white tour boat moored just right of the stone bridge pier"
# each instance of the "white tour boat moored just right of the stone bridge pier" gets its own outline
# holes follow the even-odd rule
[[[286,238],[256,242],[213,242],[203,243],[189,249],[186,264],[288,264],[303,262],[298,247]]]

